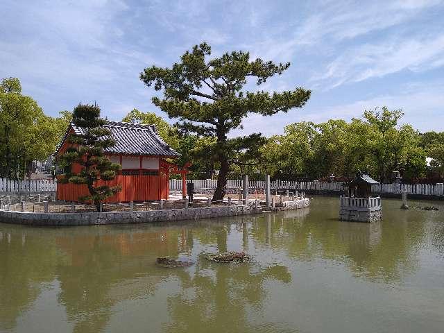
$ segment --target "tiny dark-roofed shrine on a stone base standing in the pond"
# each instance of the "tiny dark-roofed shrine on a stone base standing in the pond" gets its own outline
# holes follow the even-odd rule
[[[348,196],[341,196],[341,221],[372,222],[382,217],[381,198],[371,196],[371,187],[379,184],[370,176],[359,173],[348,182]]]

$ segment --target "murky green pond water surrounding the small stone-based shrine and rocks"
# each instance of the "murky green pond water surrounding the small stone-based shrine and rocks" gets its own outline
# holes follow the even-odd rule
[[[0,332],[444,332],[444,203],[158,225],[0,223]],[[245,251],[248,264],[203,253]],[[196,262],[162,268],[157,257]]]

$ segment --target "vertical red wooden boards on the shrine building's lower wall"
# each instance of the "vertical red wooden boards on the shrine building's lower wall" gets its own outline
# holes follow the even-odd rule
[[[99,180],[95,186],[100,185],[121,186],[114,196],[106,200],[107,203],[128,203],[130,201],[148,201],[168,199],[169,177],[168,176],[116,176],[114,180]],[[79,196],[89,194],[86,185],[57,184],[57,199],[67,201],[78,201]]]

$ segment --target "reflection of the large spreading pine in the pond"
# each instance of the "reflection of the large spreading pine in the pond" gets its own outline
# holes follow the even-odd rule
[[[246,223],[239,223],[239,226],[242,225]],[[230,224],[205,230],[206,237],[202,238],[214,239],[217,250],[222,252],[227,249],[229,228]],[[214,235],[209,235],[209,232]],[[199,233],[198,230],[194,231],[196,233]],[[239,329],[242,332],[261,332],[275,326],[267,324],[265,328],[250,323],[248,309],[262,310],[266,281],[291,280],[285,266],[257,269],[251,264],[215,264],[200,259],[192,276],[187,271],[175,272],[180,278],[182,291],[168,298],[171,323],[164,326],[167,332],[239,332]],[[275,327],[275,330],[284,332],[282,327]]]

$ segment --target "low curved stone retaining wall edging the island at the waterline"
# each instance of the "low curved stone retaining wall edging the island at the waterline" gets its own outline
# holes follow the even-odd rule
[[[282,207],[221,205],[138,212],[33,213],[0,210],[0,222],[24,225],[100,225],[213,219],[223,216],[259,214],[265,211],[296,210],[309,207],[308,198],[286,201]]]

